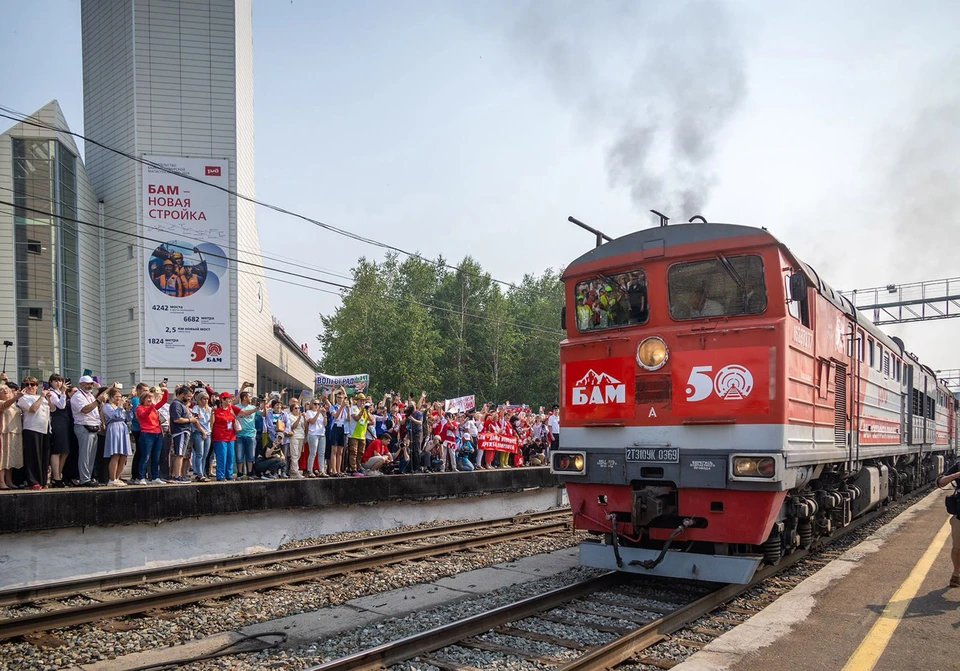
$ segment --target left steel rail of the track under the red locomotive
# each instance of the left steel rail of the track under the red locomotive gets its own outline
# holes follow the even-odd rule
[[[453,645],[465,638],[476,636],[495,629],[509,622],[522,620],[537,613],[562,606],[584,594],[590,594],[624,582],[626,578],[616,571],[604,573],[595,578],[589,578],[566,587],[528,597],[522,601],[500,606],[493,610],[457,620],[450,624],[434,627],[420,634],[413,634],[406,638],[384,643],[369,650],[354,653],[348,657],[341,657],[329,662],[313,666],[308,671],[373,671],[413,659],[448,645]]]

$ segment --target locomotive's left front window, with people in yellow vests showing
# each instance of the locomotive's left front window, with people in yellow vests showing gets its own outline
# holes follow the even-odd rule
[[[642,270],[580,282],[576,297],[581,333],[644,324],[650,317],[647,274]]]

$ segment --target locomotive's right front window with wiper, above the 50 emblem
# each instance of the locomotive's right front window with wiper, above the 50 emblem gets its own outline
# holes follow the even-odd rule
[[[674,319],[757,315],[767,309],[759,256],[678,263],[667,272],[667,289]]]

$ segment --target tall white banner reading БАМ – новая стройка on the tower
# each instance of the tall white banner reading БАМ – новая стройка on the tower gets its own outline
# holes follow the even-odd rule
[[[230,197],[219,158],[144,156],[144,346],[148,368],[230,368]],[[181,177],[184,175],[185,177]]]

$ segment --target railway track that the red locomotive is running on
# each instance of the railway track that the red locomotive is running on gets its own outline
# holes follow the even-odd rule
[[[915,495],[928,490],[920,490]],[[910,499],[915,500],[914,495]],[[686,648],[703,647],[769,603],[769,600],[753,599],[745,602],[747,608],[727,606],[731,601],[768,581],[777,583],[781,592],[789,591],[797,583],[778,581],[777,574],[885,512],[886,507],[874,511],[816,548],[798,550],[777,565],[762,568],[746,585],[713,589],[704,587],[703,583],[680,583],[682,587],[678,590],[676,583],[665,588],[663,579],[633,579],[629,575],[609,572],[331,660],[311,667],[309,671],[366,671],[412,660],[415,660],[412,665],[401,668],[430,665],[441,671],[476,671],[477,667],[470,663],[470,659],[478,653],[498,655],[502,663],[527,662],[532,665],[529,668],[552,667],[561,671],[610,669],[627,661],[669,669],[676,662],[644,655],[644,651],[666,640]],[[676,603],[671,597],[664,598],[665,592],[671,595],[686,593],[689,598]],[[711,620],[717,628],[691,628],[692,623],[719,610],[723,611],[722,615],[715,614]],[[544,634],[542,632],[548,628],[543,626],[544,622],[570,627],[570,633],[566,636]],[[555,627],[549,629],[555,630]],[[681,630],[691,632],[691,638],[671,636]],[[584,635],[583,632],[588,633]],[[604,635],[609,639],[605,643],[587,645],[583,642]],[[544,647],[548,648],[546,652]]]

